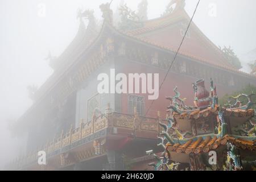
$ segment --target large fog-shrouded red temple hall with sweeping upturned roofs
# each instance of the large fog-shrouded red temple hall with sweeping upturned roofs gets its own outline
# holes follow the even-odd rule
[[[122,5],[119,14],[113,13],[110,4],[106,3],[100,5],[104,19],[100,24],[93,11],[79,11],[80,27],[77,35],[59,57],[49,56],[49,65],[54,72],[35,92],[34,104],[16,124],[17,130],[28,134],[26,155],[18,156],[6,168],[151,170],[147,164],[154,162],[155,158],[145,156],[145,151],[162,151],[162,147],[157,146],[159,132],[162,132],[159,121],[166,118],[168,100],[165,97],[172,88],[177,86],[182,96],[187,98],[186,102],[193,104],[191,96],[194,92],[189,89],[189,85],[200,78],[206,81],[212,78],[219,97],[248,84],[256,85],[255,75],[238,71],[195,23],[191,23],[185,35],[191,18],[184,6],[184,0],[171,1],[162,16],[148,19],[147,1],[143,0],[139,4],[136,13]],[[89,22],[87,26],[84,19]],[[151,107],[152,100],[148,100],[147,93],[97,92],[97,76],[100,73],[110,75],[110,69],[125,75],[159,73],[161,83],[184,35],[184,42],[172,69],[159,90],[159,98]],[[209,82],[206,86],[210,86]],[[210,120],[216,118],[218,108],[215,107],[206,111],[207,116],[198,113],[198,110],[191,116],[209,119],[210,127],[193,131],[186,123],[193,123],[193,119],[177,121],[180,127],[184,127],[181,130],[191,133],[186,137],[213,132],[215,124],[210,123]],[[229,109],[224,111],[224,115],[227,113]],[[183,117],[180,112],[176,114]],[[247,110],[239,114],[251,117],[253,112]],[[241,121],[238,119],[236,122]],[[222,139],[233,139],[232,135],[221,137],[218,144]],[[213,139],[216,138],[210,135],[200,138],[198,143],[208,144]],[[187,145],[193,143],[194,139]],[[172,147],[171,143],[167,149],[170,148],[170,152],[183,150]],[[46,165],[38,164],[38,151],[46,151]],[[195,152],[197,150],[189,154]],[[184,159],[177,162],[189,167],[189,160],[195,159],[189,158],[190,155],[184,152],[181,154]],[[183,158],[181,154],[180,158]]]

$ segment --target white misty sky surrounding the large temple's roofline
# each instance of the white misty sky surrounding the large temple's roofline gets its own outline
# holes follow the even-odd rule
[[[78,9],[98,8],[105,0],[0,0],[0,169],[6,162],[24,153],[26,136],[15,137],[10,125],[32,105],[27,86],[40,86],[52,74],[48,52],[59,56],[75,37]],[[126,0],[137,10],[140,0]],[[148,19],[158,18],[170,0],[148,0]],[[120,0],[113,0],[114,13]],[[192,15],[197,0],[186,1],[185,10]],[[216,5],[216,16],[210,16],[210,5]],[[40,16],[40,7],[46,16]],[[242,71],[250,72],[247,63],[256,60],[256,1],[203,0],[193,22],[217,46],[231,46],[240,58]]]

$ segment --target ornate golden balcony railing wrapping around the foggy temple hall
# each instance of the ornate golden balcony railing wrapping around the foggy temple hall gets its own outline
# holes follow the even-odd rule
[[[84,123],[82,120],[80,126],[69,129],[68,133],[61,133],[55,139],[52,139],[45,146],[38,147],[36,152],[29,152],[27,156],[22,156],[11,162],[7,169],[22,169],[24,166],[34,164],[38,160],[38,151],[46,151],[47,155],[53,156],[60,153],[64,147],[71,146],[92,134],[104,130],[109,127],[117,127],[131,132],[144,131],[149,133],[159,132],[159,118],[139,117],[137,113],[122,114],[122,113],[108,113],[99,116],[94,115],[92,121]],[[74,146],[76,147],[76,146]],[[72,147],[71,147],[72,148]]]

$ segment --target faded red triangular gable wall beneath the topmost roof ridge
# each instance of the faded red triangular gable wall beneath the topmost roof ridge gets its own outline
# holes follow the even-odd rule
[[[162,30],[156,30],[145,35],[140,35],[140,37],[148,40],[149,42],[154,42],[158,45],[171,48],[176,51],[183,38],[181,31],[184,31],[184,29],[185,28],[181,27],[180,24],[176,24],[176,26],[174,25],[162,28]],[[211,45],[211,43],[208,42],[207,39],[203,38],[203,36],[200,36],[199,32],[196,32],[191,27],[189,28],[187,35],[188,36],[184,39],[180,48],[180,53],[208,60],[213,64],[228,66],[228,64],[225,64],[224,58],[220,54],[221,52],[214,49],[215,46]]]

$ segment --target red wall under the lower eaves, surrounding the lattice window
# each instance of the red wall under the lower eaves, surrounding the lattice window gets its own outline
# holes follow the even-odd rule
[[[122,65],[122,68],[118,72],[125,73],[128,77],[129,73],[159,73],[159,86],[163,81],[164,76],[166,75],[167,70],[159,69],[156,67],[150,67],[148,65],[134,63],[134,62],[125,62],[125,65]],[[117,74],[117,73],[116,73]],[[148,112],[148,117],[156,117],[157,112],[160,111],[162,117],[166,116],[166,109],[169,105],[169,101],[166,100],[166,96],[174,96],[175,93],[173,89],[177,86],[177,90],[181,94],[181,98],[187,98],[185,104],[193,105],[193,88],[192,82],[199,80],[200,78],[188,76],[182,73],[168,73],[167,79],[162,86],[162,89],[159,91],[159,97],[157,100],[154,100],[154,104],[151,106],[151,109]],[[127,79],[128,81],[128,79]],[[214,80],[213,80],[214,82]],[[224,94],[232,93],[236,90],[235,87],[230,87],[228,84],[216,84],[217,94],[220,98]],[[127,87],[128,88],[128,87]],[[205,88],[209,91],[210,89],[210,80],[205,80]],[[144,113],[146,113],[148,107],[151,105],[152,100],[148,100],[147,94],[136,94],[144,96]],[[128,113],[128,94],[122,94],[121,96],[121,112]]]

